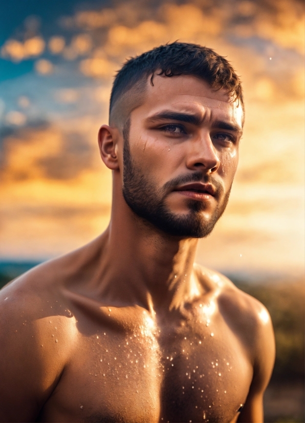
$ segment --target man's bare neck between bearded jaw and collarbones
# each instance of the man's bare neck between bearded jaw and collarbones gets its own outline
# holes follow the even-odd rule
[[[103,238],[101,289],[113,301],[171,310],[199,295],[193,274],[197,239],[159,231],[126,203],[113,207]]]

